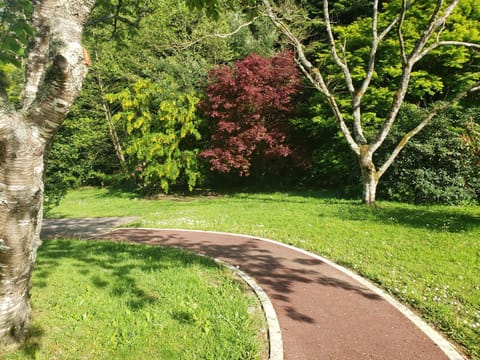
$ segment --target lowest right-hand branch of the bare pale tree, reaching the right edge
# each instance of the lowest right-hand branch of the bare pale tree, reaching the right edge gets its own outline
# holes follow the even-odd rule
[[[407,145],[412,137],[418,134],[436,115],[440,112],[448,109],[450,106],[458,102],[461,98],[466,96],[469,92],[478,91],[480,90],[480,82],[477,82],[472,87],[460,92],[457,94],[453,99],[448,102],[442,103],[438,106],[434,106],[432,110],[428,112],[428,114],[424,117],[424,119],[412,130],[406,133],[400,142],[397,144],[393,152],[388,157],[387,161],[382,165],[382,167],[378,170],[378,178],[382,177],[382,175],[387,171],[387,169],[393,164],[397,156],[400,154],[402,149]]]

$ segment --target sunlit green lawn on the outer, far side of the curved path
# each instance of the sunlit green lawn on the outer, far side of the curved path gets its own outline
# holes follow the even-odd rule
[[[480,207],[379,202],[324,192],[160,197],[86,188],[51,217],[138,216],[137,227],[271,238],[326,256],[377,283],[480,359]]]

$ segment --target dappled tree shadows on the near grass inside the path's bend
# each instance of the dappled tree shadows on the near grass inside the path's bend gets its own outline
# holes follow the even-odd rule
[[[99,291],[124,302],[132,311],[159,302],[159,295],[145,292],[138,286],[140,269],[148,273],[192,265],[218,268],[213,260],[179,249],[139,246],[104,241],[48,240],[40,248],[36,261],[33,287],[45,288],[55,281],[53,272],[68,264],[72,273],[81,274]],[[58,276],[56,274],[55,276]],[[62,276],[69,277],[70,273]],[[73,277],[73,276],[72,276]],[[71,296],[72,294],[65,294]],[[62,296],[62,294],[52,294]],[[38,325],[30,327],[27,341],[18,350],[25,358],[36,359],[45,330]]]

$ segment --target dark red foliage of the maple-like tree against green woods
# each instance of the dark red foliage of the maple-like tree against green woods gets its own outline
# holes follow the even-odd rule
[[[211,148],[200,156],[209,159],[212,170],[248,176],[253,165],[263,174],[267,161],[292,154],[288,116],[300,73],[291,52],[272,58],[251,54],[233,69],[211,70],[209,80],[201,108],[215,127]]]

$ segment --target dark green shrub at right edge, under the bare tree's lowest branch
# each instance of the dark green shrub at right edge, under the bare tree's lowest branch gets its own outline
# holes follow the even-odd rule
[[[413,203],[478,201],[480,167],[475,149],[480,142],[479,115],[478,108],[457,108],[433,119],[407,144],[385,174],[379,188],[381,194]],[[399,139],[419,116],[419,110],[404,108],[401,122],[392,132],[393,139]]]

